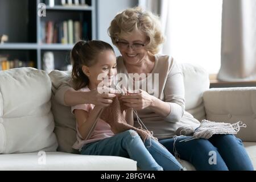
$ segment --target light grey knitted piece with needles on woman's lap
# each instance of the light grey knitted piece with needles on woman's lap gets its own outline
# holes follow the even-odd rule
[[[240,127],[246,127],[241,121],[230,124],[224,122],[212,122],[208,120],[201,121],[199,128],[195,130],[193,138],[205,138],[209,139],[214,134],[237,134],[240,131]]]

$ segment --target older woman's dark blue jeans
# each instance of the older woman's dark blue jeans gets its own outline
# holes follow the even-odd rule
[[[243,147],[241,139],[234,135],[213,135],[207,139],[193,139],[179,142],[189,137],[178,137],[175,142],[180,159],[189,161],[197,170],[253,170],[253,164]],[[159,140],[174,154],[174,138]],[[216,158],[214,160],[214,158]]]

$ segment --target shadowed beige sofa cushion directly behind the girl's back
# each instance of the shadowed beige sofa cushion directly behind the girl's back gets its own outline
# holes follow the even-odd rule
[[[67,84],[71,78],[71,73],[67,71],[52,71],[49,73],[52,81],[52,113],[55,121],[55,134],[59,142],[58,151],[78,153],[72,146],[76,142],[76,119],[71,113],[71,107],[59,102],[63,98],[56,98],[57,90]]]

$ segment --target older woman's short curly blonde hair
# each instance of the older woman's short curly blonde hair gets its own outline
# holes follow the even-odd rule
[[[117,46],[116,42],[122,34],[133,31],[146,34],[148,44],[145,48],[147,51],[153,55],[159,52],[160,45],[164,42],[165,38],[158,16],[150,11],[142,11],[141,7],[133,7],[118,13],[108,28],[108,34],[115,46]]]

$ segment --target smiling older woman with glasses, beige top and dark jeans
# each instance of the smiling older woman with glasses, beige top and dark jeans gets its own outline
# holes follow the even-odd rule
[[[147,89],[142,88],[139,93],[122,96],[121,100],[126,106],[138,111],[138,117],[147,129],[153,131],[154,137],[172,155],[179,154],[180,159],[189,161],[197,170],[253,170],[241,140],[234,135],[217,134],[208,140],[194,139],[188,142],[179,141],[189,137],[174,137],[179,127],[196,129],[200,122],[185,111],[183,75],[176,61],[171,56],[157,54],[159,46],[164,42],[157,16],[143,12],[138,7],[127,9],[112,20],[109,35],[122,55],[117,57],[119,73],[124,73],[127,79],[129,73],[152,73],[146,78],[133,80],[134,85],[141,86],[145,81],[154,81],[154,74],[158,74],[158,85],[154,93],[148,93]],[[133,89],[129,85],[129,90]],[[114,97],[114,94],[100,94],[97,90],[77,92],[67,85],[57,94],[60,102],[68,106],[108,106]],[[134,125],[139,126],[137,119]],[[215,152],[217,163],[209,164],[210,151]],[[178,166],[180,164],[177,162]]]

